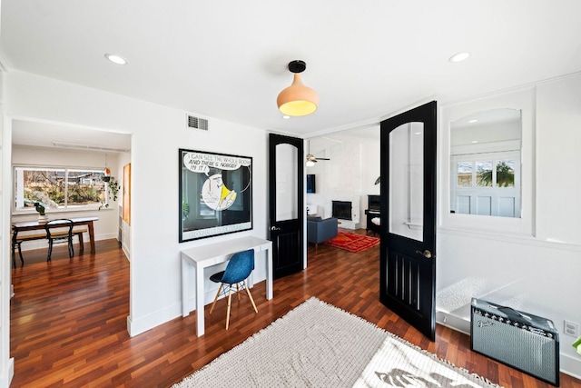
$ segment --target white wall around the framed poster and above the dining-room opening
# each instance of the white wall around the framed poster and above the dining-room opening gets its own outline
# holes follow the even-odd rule
[[[208,132],[194,131],[186,128],[186,113],[181,110],[18,71],[9,73],[5,81],[9,118],[133,134],[131,335],[181,315],[182,249],[241,235],[266,237],[268,137],[264,131],[212,118]],[[178,243],[179,148],[253,157],[252,231]],[[255,282],[265,277],[265,264],[258,265]],[[188,291],[192,297],[194,285]]]

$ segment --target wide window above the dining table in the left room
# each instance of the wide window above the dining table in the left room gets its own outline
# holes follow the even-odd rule
[[[107,204],[103,170],[53,167],[15,167],[15,210],[71,209]]]

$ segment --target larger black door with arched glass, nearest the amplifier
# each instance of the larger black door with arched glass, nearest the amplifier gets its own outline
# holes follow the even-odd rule
[[[381,122],[379,299],[436,338],[436,102]]]

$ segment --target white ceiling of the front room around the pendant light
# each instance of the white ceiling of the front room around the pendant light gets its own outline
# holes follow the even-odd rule
[[[581,71],[579,0],[2,0],[1,13],[7,70],[300,137]],[[294,59],[320,105],[283,120]]]

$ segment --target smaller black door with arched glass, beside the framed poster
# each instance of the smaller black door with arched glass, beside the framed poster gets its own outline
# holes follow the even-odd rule
[[[302,139],[269,136],[269,216],[274,278],[304,269]]]

